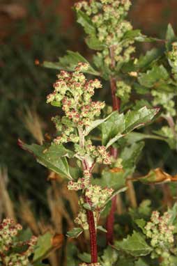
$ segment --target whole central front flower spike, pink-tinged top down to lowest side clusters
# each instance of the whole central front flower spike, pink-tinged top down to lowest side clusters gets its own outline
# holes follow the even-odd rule
[[[88,137],[88,128],[93,124],[105,102],[94,102],[92,97],[95,88],[102,85],[98,79],[87,81],[82,71],[88,69],[87,63],[79,63],[75,72],[61,71],[54,84],[54,92],[47,96],[47,102],[61,106],[62,118],[52,118],[59,136],[54,143],[73,143],[75,157],[82,162],[83,177],[77,182],[70,180],[68,189],[82,191],[79,199],[80,212],[75,219],[83,230],[88,230],[87,210],[93,210],[95,228],[97,228],[100,210],[113,194],[113,189],[91,184],[91,172],[95,163],[111,164],[111,157],[105,146],[94,146]]]

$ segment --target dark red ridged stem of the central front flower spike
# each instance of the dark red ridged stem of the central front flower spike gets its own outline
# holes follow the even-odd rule
[[[79,132],[79,145],[84,148],[84,134],[83,129],[78,128]],[[88,170],[90,173],[93,169],[93,166],[89,167],[88,162],[86,159],[82,161],[82,167],[84,170]],[[84,196],[84,200],[86,203],[91,205],[91,201],[89,198]],[[91,247],[91,263],[98,263],[98,251],[97,251],[97,234],[96,234],[96,228],[95,228],[95,219],[94,214],[91,210],[86,210],[86,217],[88,222],[88,228],[89,228],[89,235],[90,235],[90,247]]]

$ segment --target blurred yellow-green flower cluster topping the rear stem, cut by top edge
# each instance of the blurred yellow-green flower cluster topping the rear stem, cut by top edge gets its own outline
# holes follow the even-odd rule
[[[105,64],[111,65],[111,57],[118,64],[128,62],[135,51],[134,40],[123,38],[125,33],[132,30],[130,22],[125,20],[130,9],[130,0],[91,0],[80,1],[75,4],[76,10],[82,10],[91,17],[95,26],[95,38],[104,44],[98,58]]]

